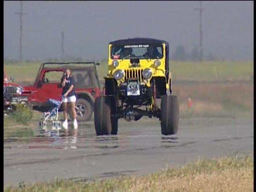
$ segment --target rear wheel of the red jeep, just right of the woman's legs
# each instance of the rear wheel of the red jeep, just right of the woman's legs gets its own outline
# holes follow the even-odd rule
[[[92,117],[92,106],[85,99],[76,100],[76,118],[78,121],[89,121]]]

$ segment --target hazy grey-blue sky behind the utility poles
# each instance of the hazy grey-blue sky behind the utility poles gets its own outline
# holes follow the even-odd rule
[[[172,55],[199,45],[199,1],[23,1],[23,58],[107,57],[108,43],[129,37],[166,40]],[[253,1],[202,1],[204,55],[253,59]],[[4,1],[4,57],[19,58],[20,1]]]

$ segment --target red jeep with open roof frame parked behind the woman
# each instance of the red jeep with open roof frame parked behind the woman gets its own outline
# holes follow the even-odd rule
[[[34,85],[24,86],[28,101],[34,110],[44,111],[48,108],[49,98],[61,100],[60,80],[64,70],[71,70],[75,79],[77,94],[76,112],[78,121],[88,121],[94,111],[95,98],[100,96],[100,83],[95,62],[46,62],[42,63]]]

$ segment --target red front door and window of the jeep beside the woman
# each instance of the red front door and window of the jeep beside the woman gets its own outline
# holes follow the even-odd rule
[[[62,78],[62,71],[46,71],[42,78],[42,86],[37,88],[37,98],[40,102],[47,102],[49,98],[60,100],[62,88],[60,80]]]

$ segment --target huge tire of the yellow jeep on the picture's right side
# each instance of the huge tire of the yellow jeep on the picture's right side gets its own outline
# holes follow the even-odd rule
[[[179,104],[177,96],[164,95],[161,100],[161,132],[176,134],[179,126]]]

